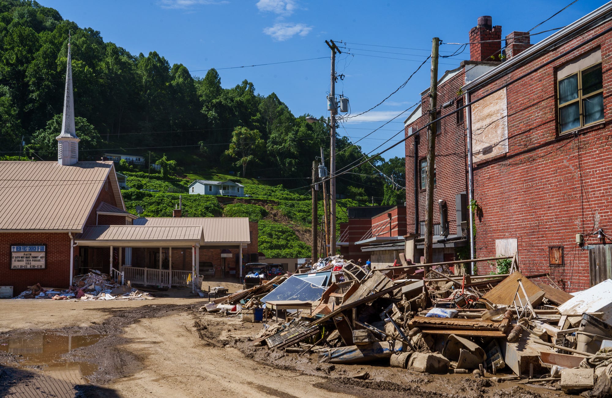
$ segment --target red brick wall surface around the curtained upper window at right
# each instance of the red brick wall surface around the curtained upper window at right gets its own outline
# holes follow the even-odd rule
[[[610,26],[607,22],[554,48],[473,92],[472,99]],[[602,51],[605,123],[559,136],[555,68],[597,46]],[[575,236],[599,228],[612,232],[611,57],[612,34],[606,34],[507,88],[509,152],[474,169],[475,199],[482,207],[476,221],[477,257],[493,256],[497,239],[517,238],[524,273],[549,272],[569,292],[589,287],[588,251],[577,248]],[[586,240],[591,245],[596,241]],[[564,246],[564,267],[550,267],[551,245]],[[479,264],[480,273],[490,268]]]

